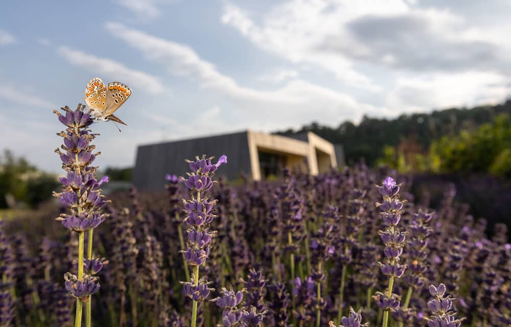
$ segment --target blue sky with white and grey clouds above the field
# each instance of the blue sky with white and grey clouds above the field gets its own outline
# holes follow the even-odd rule
[[[0,150],[59,172],[52,111],[93,77],[132,89],[122,132],[92,125],[101,167],[140,144],[499,103],[510,18],[508,0],[4,2]]]

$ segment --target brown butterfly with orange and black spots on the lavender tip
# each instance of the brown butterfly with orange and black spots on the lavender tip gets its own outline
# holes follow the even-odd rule
[[[128,85],[111,82],[105,87],[105,83],[96,77],[87,83],[83,99],[97,120],[126,125],[113,113],[128,100],[129,96],[131,96],[131,88]]]

